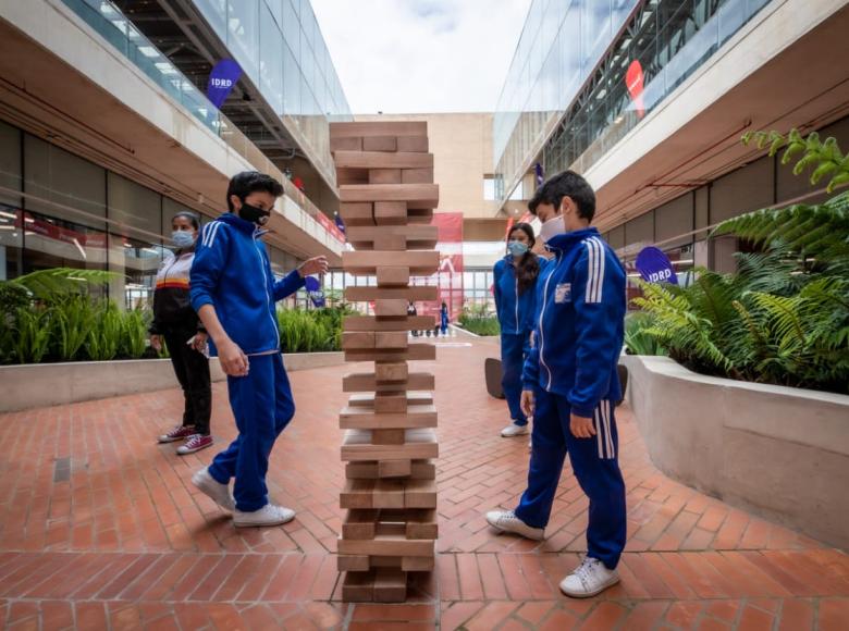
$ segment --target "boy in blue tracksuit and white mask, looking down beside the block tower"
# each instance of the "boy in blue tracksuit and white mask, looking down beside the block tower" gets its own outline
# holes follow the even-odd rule
[[[528,488],[515,510],[492,511],[493,527],[541,540],[569,454],[589,496],[587,557],[561,583],[574,597],[618,582],[625,547],[625,483],[614,418],[620,398],[616,364],[625,319],[625,270],[590,227],[595,195],[571,171],[543,184],[529,203],[540,236],[554,253],[537,281],[534,348],[525,363],[522,407],[533,410]]]

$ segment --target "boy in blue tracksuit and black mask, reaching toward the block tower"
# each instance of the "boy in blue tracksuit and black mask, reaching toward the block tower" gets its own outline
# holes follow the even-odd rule
[[[268,500],[266,473],[274,441],[292,420],[295,404],[280,355],[274,304],[297,292],[305,276],[327,271],[324,257],[309,259],[281,281],[271,273],[261,230],[283,194],[273,177],[238,173],[227,187],[229,213],[204,226],[189,277],[192,306],[218,350],[227,375],[238,436],[192,481],[237,527],[276,525],[295,512]],[[230,480],[235,478],[233,496]]]

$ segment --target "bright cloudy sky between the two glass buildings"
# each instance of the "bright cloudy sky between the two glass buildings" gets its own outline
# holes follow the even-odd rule
[[[352,112],[493,111],[531,0],[312,0]]]

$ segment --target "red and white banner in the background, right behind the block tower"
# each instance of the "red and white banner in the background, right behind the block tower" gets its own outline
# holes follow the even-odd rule
[[[434,213],[431,225],[439,230],[436,249],[440,252],[440,268],[432,276],[416,279],[415,283],[439,287],[435,302],[417,305],[419,316],[432,316],[435,325],[443,301],[448,307],[451,322],[456,321],[463,312],[463,213]]]

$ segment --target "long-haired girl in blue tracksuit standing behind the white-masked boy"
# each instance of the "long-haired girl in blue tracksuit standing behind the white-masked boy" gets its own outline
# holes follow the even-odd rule
[[[521,368],[530,349],[530,332],[537,306],[534,284],[540,258],[531,252],[533,228],[517,223],[507,235],[507,256],[495,263],[493,287],[495,312],[501,327],[501,385],[510,411],[510,424],[501,431],[506,437],[528,433],[528,417],[521,411]]]

